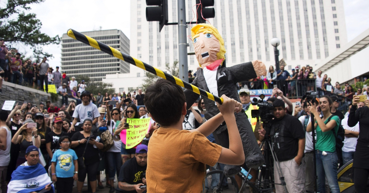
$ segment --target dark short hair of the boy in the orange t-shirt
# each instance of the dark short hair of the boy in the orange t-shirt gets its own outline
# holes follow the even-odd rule
[[[169,126],[179,121],[186,97],[182,88],[165,79],[151,84],[145,92],[144,103],[147,110],[162,126]]]

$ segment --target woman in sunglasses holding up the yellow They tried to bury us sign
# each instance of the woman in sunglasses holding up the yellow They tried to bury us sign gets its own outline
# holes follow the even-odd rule
[[[127,118],[139,119],[139,114],[138,114],[137,107],[135,106],[135,104],[129,104],[127,106],[127,109],[125,110],[125,117],[120,121],[120,124],[118,125],[118,129],[115,129],[114,135],[120,135],[120,133],[123,130],[126,131],[126,129],[128,129]],[[123,160],[123,164],[125,161],[131,159],[132,157],[135,157],[135,153],[136,153],[136,148],[125,149],[125,144],[122,143],[120,154]]]

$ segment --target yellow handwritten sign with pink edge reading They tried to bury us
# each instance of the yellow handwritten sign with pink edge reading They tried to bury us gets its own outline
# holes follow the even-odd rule
[[[141,143],[150,130],[150,119],[127,119],[129,129],[123,129],[120,133],[120,139],[125,144],[125,149],[131,149]]]

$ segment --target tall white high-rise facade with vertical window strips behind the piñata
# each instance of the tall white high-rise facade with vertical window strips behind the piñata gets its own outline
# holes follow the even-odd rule
[[[347,43],[343,0],[215,0],[215,18],[208,21],[222,35],[227,66],[252,60],[274,65],[273,37],[280,39],[279,59],[286,70],[314,67]],[[186,20],[196,21],[196,0],[186,0]],[[194,7],[195,6],[195,7]],[[169,22],[177,22],[177,0],[168,0]],[[178,26],[146,21],[144,0],[131,0],[131,56],[165,70],[178,60]],[[191,37],[188,25],[187,36]],[[194,52],[192,40],[188,52]],[[188,68],[198,67],[188,56]],[[141,72],[136,67],[131,73]]]

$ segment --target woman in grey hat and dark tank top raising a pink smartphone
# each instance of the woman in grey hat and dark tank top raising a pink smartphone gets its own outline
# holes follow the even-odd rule
[[[21,165],[27,161],[25,159],[25,150],[27,150],[28,146],[33,145],[32,137],[35,137],[36,147],[39,148],[41,144],[40,136],[37,135],[37,128],[36,127],[28,128],[27,127],[28,124],[30,123],[25,123],[24,125],[22,125],[11,139],[12,143],[20,145],[20,152],[17,159],[17,167],[18,165]]]

